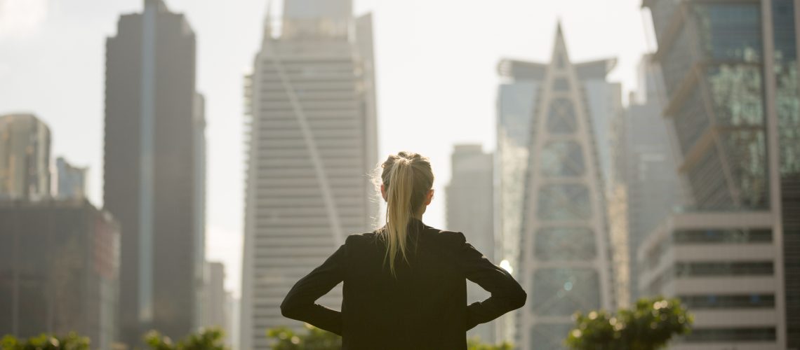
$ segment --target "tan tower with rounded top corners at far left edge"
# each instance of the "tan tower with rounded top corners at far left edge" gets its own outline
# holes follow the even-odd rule
[[[0,199],[50,197],[50,128],[32,114],[0,116]]]

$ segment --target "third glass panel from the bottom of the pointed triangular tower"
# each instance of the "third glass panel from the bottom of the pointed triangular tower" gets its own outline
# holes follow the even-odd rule
[[[536,257],[541,260],[592,260],[597,256],[592,230],[550,227],[536,233]]]

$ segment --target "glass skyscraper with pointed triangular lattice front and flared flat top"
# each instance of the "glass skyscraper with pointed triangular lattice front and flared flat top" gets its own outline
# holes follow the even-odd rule
[[[587,83],[604,81],[614,61],[574,65],[559,26],[550,64],[505,65],[501,72],[529,78],[501,90],[498,121],[499,232],[508,245],[504,257],[510,259],[504,259],[513,261],[529,291],[528,303],[515,314],[514,338],[522,349],[558,349],[575,311],[614,307],[596,135],[606,129],[593,126],[609,116],[594,109],[606,105],[602,93],[594,103],[586,96],[596,88]]]

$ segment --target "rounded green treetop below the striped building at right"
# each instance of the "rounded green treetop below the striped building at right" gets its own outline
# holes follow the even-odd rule
[[[678,299],[640,299],[617,315],[576,313],[566,345],[575,350],[655,350],[690,332],[692,317]]]

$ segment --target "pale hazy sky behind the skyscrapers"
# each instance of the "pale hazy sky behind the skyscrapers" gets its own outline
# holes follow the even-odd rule
[[[266,0],[166,0],[198,35],[198,91],[206,96],[206,252],[225,262],[238,295],[242,247],[242,76],[261,41]],[[274,1],[279,14],[280,1]],[[142,0],[0,0],[0,114],[34,112],[50,125],[53,155],[89,166],[102,205],[105,39]],[[379,152],[417,151],[438,190],[426,222],[445,226],[453,144],[494,149],[496,65],[546,62],[558,18],[573,61],[618,57],[612,81],[636,88],[653,49],[641,0],[355,0],[374,14]],[[646,34],[647,33],[647,34]],[[491,199],[486,199],[491,200]]]

